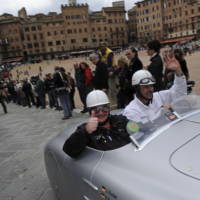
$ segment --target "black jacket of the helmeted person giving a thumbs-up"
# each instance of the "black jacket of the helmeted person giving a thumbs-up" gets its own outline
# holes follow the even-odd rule
[[[106,151],[122,147],[130,142],[129,135],[126,132],[127,118],[122,115],[110,116],[110,129],[98,127],[96,131],[88,134],[85,130],[85,124],[77,128],[66,141],[63,150],[69,156],[75,158],[86,148]]]

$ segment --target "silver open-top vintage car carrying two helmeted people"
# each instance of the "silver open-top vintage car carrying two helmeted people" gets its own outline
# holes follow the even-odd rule
[[[73,124],[45,148],[59,200],[200,200],[200,98],[178,99],[147,124],[129,122],[131,143],[111,151],[63,151]],[[118,112],[118,111],[117,111]],[[82,122],[81,122],[82,123]]]

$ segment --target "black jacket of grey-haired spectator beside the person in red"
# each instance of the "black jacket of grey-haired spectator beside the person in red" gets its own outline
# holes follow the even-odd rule
[[[95,89],[108,89],[108,67],[101,61],[96,64],[93,85]]]

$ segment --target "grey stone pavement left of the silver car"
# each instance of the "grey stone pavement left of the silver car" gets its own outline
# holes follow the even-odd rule
[[[51,109],[8,104],[0,108],[0,200],[55,200],[46,175],[43,152],[49,139],[82,116],[70,120]],[[86,115],[84,115],[86,116]]]

